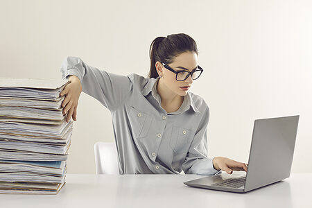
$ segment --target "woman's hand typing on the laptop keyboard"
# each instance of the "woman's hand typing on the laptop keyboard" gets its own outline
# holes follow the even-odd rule
[[[247,172],[248,164],[242,162],[236,162],[233,159],[227,157],[214,157],[212,160],[214,168],[218,171],[222,170],[229,174],[232,174],[233,171],[245,171]]]

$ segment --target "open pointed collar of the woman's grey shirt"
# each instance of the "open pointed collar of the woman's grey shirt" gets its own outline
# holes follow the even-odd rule
[[[152,92],[153,97],[159,102],[160,104],[160,96],[159,94],[157,94],[157,82],[159,80],[159,77],[157,78],[148,78],[148,83],[146,83],[146,85],[144,86],[144,88],[141,90],[141,93],[144,96],[147,96],[150,92]],[[200,112],[198,110],[198,108],[196,107],[193,98],[191,97],[191,94],[189,94],[189,92],[187,92],[187,95],[184,96],[184,100],[183,103],[181,105],[181,107],[179,108],[179,110],[177,110],[176,112],[179,113],[180,111],[185,111],[185,110],[189,110],[189,107],[191,107],[191,109],[194,112]]]

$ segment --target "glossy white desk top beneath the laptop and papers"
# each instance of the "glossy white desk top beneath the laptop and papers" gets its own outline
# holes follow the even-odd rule
[[[202,175],[68,174],[58,195],[0,194],[0,207],[312,207],[312,173],[293,173],[248,193],[183,184],[198,177]]]

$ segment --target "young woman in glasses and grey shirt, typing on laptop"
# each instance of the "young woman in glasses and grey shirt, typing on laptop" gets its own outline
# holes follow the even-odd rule
[[[180,33],[157,37],[150,45],[148,78],[120,76],[67,57],[62,78],[70,80],[61,92],[67,122],[76,121],[78,98],[85,92],[112,113],[121,174],[247,171],[244,163],[226,157],[207,157],[209,107],[189,92],[200,78],[196,42]]]

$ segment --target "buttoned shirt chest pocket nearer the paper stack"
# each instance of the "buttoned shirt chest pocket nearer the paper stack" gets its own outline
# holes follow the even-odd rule
[[[137,108],[130,106],[129,120],[132,127],[133,135],[137,138],[146,137],[150,130],[150,124],[152,123],[153,116],[138,110]]]

